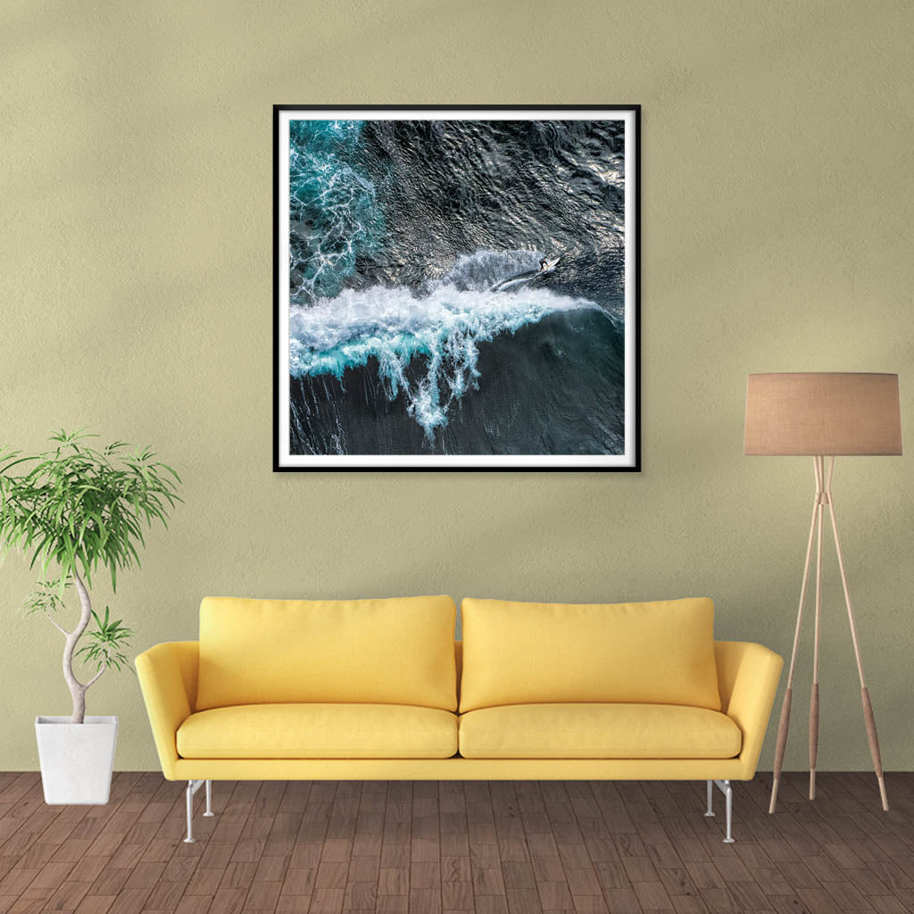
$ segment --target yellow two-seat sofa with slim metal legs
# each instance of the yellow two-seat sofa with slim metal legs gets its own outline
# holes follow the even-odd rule
[[[136,669],[162,771],[214,780],[696,780],[754,774],[781,675],[710,600],[203,601]]]

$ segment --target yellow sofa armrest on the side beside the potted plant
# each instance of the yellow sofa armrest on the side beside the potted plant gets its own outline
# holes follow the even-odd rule
[[[134,661],[149,724],[153,728],[155,749],[159,753],[162,773],[169,781],[178,780],[175,734],[194,711],[198,660],[196,641],[174,641],[156,644]]]

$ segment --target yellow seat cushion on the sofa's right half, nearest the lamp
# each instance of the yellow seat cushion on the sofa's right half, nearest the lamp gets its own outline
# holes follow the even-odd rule
[[[507,705],[460,718],[466,759],[732,759],[726,714],[684,705]]]

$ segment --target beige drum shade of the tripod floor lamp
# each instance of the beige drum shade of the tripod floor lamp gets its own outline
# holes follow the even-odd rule
[[[900,454],[898,375],[749,375],[745,453]]]

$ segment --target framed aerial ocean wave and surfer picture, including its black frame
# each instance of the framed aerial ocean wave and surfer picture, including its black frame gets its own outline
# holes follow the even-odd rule
[[[273,106],[273,469],[640,470],[640,106]]]

